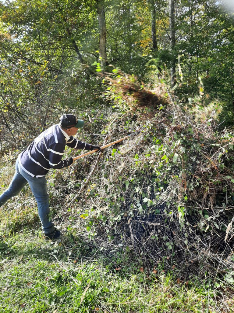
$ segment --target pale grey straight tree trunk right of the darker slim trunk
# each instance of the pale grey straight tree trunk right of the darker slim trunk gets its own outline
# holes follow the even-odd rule
[[[176,55],[175,55],[175,5],[176,0],[169,0],[169,35],[170,35],[170,48],[171,48],[171,87],[173,87],[176,83]]]

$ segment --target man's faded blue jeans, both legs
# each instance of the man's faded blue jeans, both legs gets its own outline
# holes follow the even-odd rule
[[[16,161],[16,171],[12,178],[12,181],[1,195],[0,195],[0,207],[10,198],[16,196],[21,189],[29,183],[32,193],[37,201],[38,214],[41,220],[42,228],[45,233],[51,233],[55,228],[51,221],[49,221],[48,214],[49,208],[49,196],[46,187],[46,177],[32,177],[27,174],[19,164],[19,160]]]

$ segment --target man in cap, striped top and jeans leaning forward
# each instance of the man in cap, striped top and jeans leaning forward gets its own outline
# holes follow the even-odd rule
[[[37,201],[38,214],[45,236],[50,239],[60,237],[49,220],[49,197],[46,187],[46,174],[50,168],[68,167],[73,163],[73,158],[62,160],[65,146],[76,149],[100,150],[100,146],[93,146],[76,140],[78,128],[84,121],[77,120],[75,115],[63,114],[60,123],[43,131],[17,158],[16,171],[12,181],[0,195],[0,207],[10,198],[16,196],[28,183]]]

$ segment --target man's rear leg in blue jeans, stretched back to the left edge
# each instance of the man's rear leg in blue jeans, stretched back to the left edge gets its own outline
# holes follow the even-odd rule
[[[5,190],[0,195],[0,207],[7,200],[16,196],[26,184],[27,180],[21,175],[21,173],[18,170],[18,159],[17,159],[15,175],[13,176],[12,181],[10,182],[10,185],[8,186],[7,190]]]

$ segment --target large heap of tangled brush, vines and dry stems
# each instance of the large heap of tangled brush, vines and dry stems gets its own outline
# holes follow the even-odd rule
[[[102,125],[95,116],[92,127],[101,127],[109,141],[132,136],[103,151],[78,198],[77,182],[82,187],[80,177],[89,175],[94,155],[74,165],[76,186],[66,206],[77,217],[75,225],[83,224],[105,249],[128,247],[145,263],[183,267],[185,276],[197,269],[214,276],[224,271],[231,280],[234,134],[217,130],[212,111],[199,124],[171,102],[164,85],[150,91],[131,77],[109,77],[105,94],[115,109],[100,112]],[[148,100],[140,110],[143,94],[151,97],[148,108],[157,103],[153,117],[145,112]]]

